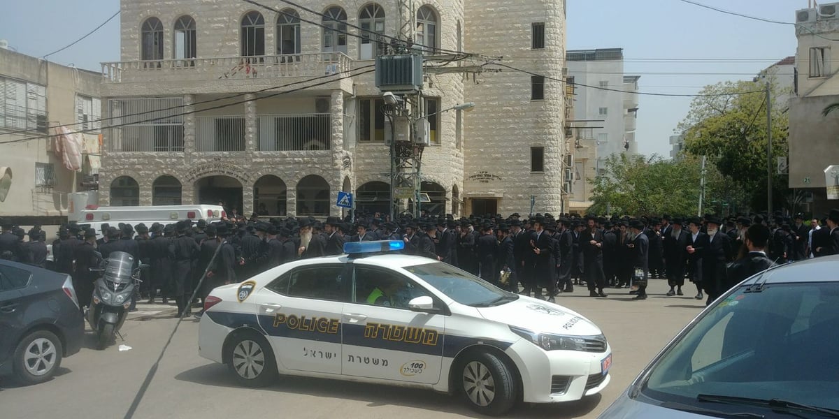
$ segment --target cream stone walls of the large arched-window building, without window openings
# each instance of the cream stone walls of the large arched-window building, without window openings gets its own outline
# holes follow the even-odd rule
[[[504,55],[513,49],[516,54],[520,51],[533,59],[512,60],[510,65],[545,75],[561,74],[565,54],[564,2],[527,0],[527,7],[517,5],[515,8],[505,6],[501,1],[489,3],[492,5],[478,0],[424,0],[413,5],[417,9],[428,6],[435,11],[438,48],[486,55]],[[360,13],[369,4],[372,3],[315,1],[305,3],[305,6],[319,11],[340,6],[347,13],[347,23],[359,25]],[[378,4],[385,15],[385,34],[395,36],[408,13],[401,13],[400,17],[399,2]],[[493,9],[495,11],[490,13]],[[240,57],[240,22],[252,11],[261,13],[265,22],[266,55],[258,60]],[[297,12],[301,19],[321,22],[320,17],[312,13]],[[510,13],[509,17],[519,23],[506,30],[499,28],[498,35],[487,37],[481,28],[492,25],[500,12]],[[175,36],[174,25],[183,15],[195,19],[195,59],[172,59],[176,55],[176,44],[171,41]],[[122,176],[137,181],[141,205],[153,203],[154,183],[160,176],[169,175],[180,182],[184,203],[206,200],[206,197],[202,198],[199,186],[203,179],[224,176],[241,185],[242,202],[233,205],[249,215],[262,202],[255,190],[258,181],[263,176],[273,175],[282,181],[274,186],[285,189],[286,215],[301,215],[297,211],[298,195],[303,190],[299,188],[300,181],[316,175],[329,185],[328,210],[316,215],[341,215],[341,209],[335,206],[338,191],[356,190],[369,182],[389,183],[388,144],[362,141],[361,125],[365,122],[362,104],[381,99],[382,91],[375,86],[372,72],[357,74],[374,63],[373,59],[361,59],[361,40],[347,36],[346,51],[325,54],[321,44],[323,30],[303,21],[300,23],[300,54],[294,54],[294,59],[273,55],[278,50],[279,30],[275,23],[280,16],[283,15],[242,2],[122,1],[122,62],[103,64],[106,74],[103,96],[114,100],[179,97],[183,99],[187,115],[183,116],[182,151],[119,151],[108,147],[109,142],[116,143],[116,135],[105,130],[100,204],[110,203],[109,186]],[[159,60],[160,65],[149,68],[148,62],[140,60],[141,28],[151,17],[159,18],[164,28],[164,59]],[[545,22],[545,49],[530,49],[532,22]],[[413,26],[413,23],[408,25],[409,28]],[[358,33],[354,28],[347,30]],[[337,75],[326,80],[330,71]],[[350,71],[352,77],[347,76]],[[344,76],[347,76],[344,80],[335,80]],[[311,80],[315,78],[325,81]],[[477,84],[463,73],[425,76],[422,95],[439,101],[435,132],[439,141],[425,148],[421,178],[424,183],[445,190],[446,200],[439,212],[469,214],[471,197],[497,196],[498,212],[524,214],[529,210],[532,194],[538,197],[536,209],[539,212],[559,212],[563,86],[549,82],[545,86],[545,100],[530,101],[529,75],[512,71],[485,73],[478,75],[476,80]],[[320,83],[322,85],[315,85]],[[303,87],[306,89],[302,90]],[[277,95],[293,89],[301,90]],[[241,96],[224,98],[237,94]],[[321,100],[328,100],[328,109],[319,109]],[[447,111],[465,101],[476,102],[475,111]],[[230,103],[236,104],[208,109]],[[107,110],[107,103],[103,108]],[[196,110],[195,114],[189,114]],[[260,145],[263,137],[273,135],[266,132],[263,119],[315,114],[329,116],[328,149],[263,151],[264,147]],[[243,149],[200,151],[199,143],[206,143],[200,127],[208,118],[216,123],[216,130],[221,122],[243,119]],[[389,130],[389,125],[385,129]],[[279,128],[277,132],[279,137]],[[545,147],[544,173],[529,171],[531,146]],[[500,161],[504,164],[498,164]],[[479,173],[494,177],[482,178]],[[323,198],[323,191],[315,192],[318,199]],[[462,204],[464,200],[466,205]]]

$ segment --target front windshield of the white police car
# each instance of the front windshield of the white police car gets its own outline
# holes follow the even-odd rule
[[[405,266],[430,286],[437,288],[446,296],[472,307],[489,307],[515,301],[518,295],[492,286],[481,278],[474,277],[448,263],[434,262],[425,265]]]

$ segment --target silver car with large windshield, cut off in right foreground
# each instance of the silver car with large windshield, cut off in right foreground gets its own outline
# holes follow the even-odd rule
[[[600,417],[701,416],[839,417],[839,256],[732,288]]]

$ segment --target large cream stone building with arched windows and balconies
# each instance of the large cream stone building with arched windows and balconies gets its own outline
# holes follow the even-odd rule
[[[122,61],[102,65],[103,111],[114,119],[100,204],[223,202],[246,215],[322,217],[341,215],[343,190],[358,209],[386,213],[396,127],[367,71],[388,37],[513,55],[504,63],[541,75],[561,74],[565,56],[563,0],[305,3],[318,13],[286,3],[121,4]],[[518,23],[493,26],[501,14]],[[427,74],[422,208],[526,213],[535,195],[534,212],[559,212],[562,91],[512,70]],[[465,101],[475,110],[451,110]]]

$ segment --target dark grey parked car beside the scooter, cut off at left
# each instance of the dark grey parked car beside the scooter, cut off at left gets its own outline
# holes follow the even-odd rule
[[[0,375],[50,380],[61,359],[81,349],[84,333],[69,275],[0,261]]]

